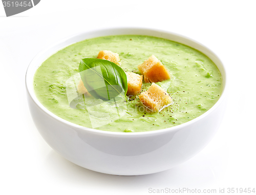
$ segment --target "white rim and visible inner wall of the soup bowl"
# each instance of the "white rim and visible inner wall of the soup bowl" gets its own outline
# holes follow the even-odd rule
[[[181,44],[187,45],[191,48],[194,48],[200,52],[202,52],[203,54],[205,54],[206,56],[208,56],[218,67],[222,78],[223,78],[223,89],[222,89],[222,94],[220,99],[217,101],[217,103],[211,107],[210,110],[208,110],[206,113],[204,113],[203,115],[197,117],[196,119],[193,119],[191,121],[195,121],[195,120],[199,120],[200,118],[204,117],[207,115],[207,113],[211,112],[212,110],[215,109],[215,107],[218,106],[218,104],[223,100],[223,96],[225,95],[225,91],[226,91],[226,71],[225,68],[223,66],[223,63],[221,62],[221,60],[219,59],[219,57],[212,52],[210,49],[208,49],[207,47],[203,46],[202,44],[200,44],[199,42],[192,40],[190,38],[187,38],[185,36],[182,35],[178,35],[176,33],[172,33],[172,32],[166,32],[166,31],[161,31],[161,30],[153,30],[153,29],[141,29],[141,28],[116,28],[116,29],[104,29],[104,30],[96,30],[96,31],[91,31],[91,32],[83,32],[83,33],[79,33],[77,35],[62,39],[58,42],[56,42],[54,45],[46,48],[45,50],[42,50],[41,52],[39,52],[31,61],[27,73],[26,73],[26,86],[27,86],[27,90],[29,95],[31,96],[31,98],[33,99],[33,101],[43,110],[45,111],[47,114],[49,114],[50,116],[56,118],[57,120],[63,122],[63,123],[68,123],[69,125],[75,126],[75,127],[82,127],[80,125],[76,125],[74,123],[71,123],[69,121],[66,121],[56,115],[54,115],[53,113],[51,113],[50,111],[48,111],[36,98],[35,93],[34,93],[34,89],[33,89],[33,79],[34,79],[34,74],[36,72],[36,70],[38,69],[38,67],[41,65],[42,62],[44,62],[48,57],[50,57],[51,55],[53,55],[54,53],[56,53],[57,51],[66,48],[67,46],[74,44],[76,42],[82,41],[84,39],[89,39],[89,38],[95,38],[95,37],[99,37],[99,36],[108,36],[108,35],[127,35],[127,34],[134,34],[134,35],[148,35],[148,36],[156,36],[156,37],[160,37],[160,38],[165,38],[165,39],[169,39],[169,40],[173,40],[176,42],[180,42]],[[188,121],[184,124],[181,125],[177,125],[174,127],[170,127],[167,129],[175,129],[179,126],[182,125],[186,125],[189,124],[191,121]],[[82,127],[84,129],[90,129],[87,127]],[[100,131],[97,129],[90,129],[91,131],[97,131],[97,132],[104,132],[104,131]],[[162,129],[164,130],[164,129]],[[141,132],[141,133],[136,133],[136,134],[145,134],[145,133],[154,133],[154,132],[159,132],[161,130],[158,131],[152,131],[152,132]],[[112,134],[123,134],[123,133],[117,133],[117,132],[109,132]],[[126,134],[127,135],[127,134]],[[130,134],[132,135],[132,134]]]

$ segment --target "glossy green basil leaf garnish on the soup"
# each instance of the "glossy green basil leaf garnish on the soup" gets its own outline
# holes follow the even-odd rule
[[[83,85],[93,97],[108,101],[123,92],[126,99],[128,89],[126,74],[114,62],[83,58],[79,64],[79,73]]]

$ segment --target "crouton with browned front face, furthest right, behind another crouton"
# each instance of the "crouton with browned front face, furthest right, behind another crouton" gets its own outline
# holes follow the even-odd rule
[[[170,73],[156,56],[152,55],[138,66],[145,82],[159,82],[170,78]]]

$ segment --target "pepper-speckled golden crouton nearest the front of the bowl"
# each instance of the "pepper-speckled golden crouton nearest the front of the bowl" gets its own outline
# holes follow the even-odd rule
[[[161,86],[154,82],[150,88],[139,95],[141,103],[152,111],[159,111],[164,105],[173,102],[173,99]]]

